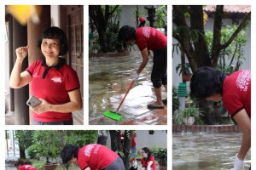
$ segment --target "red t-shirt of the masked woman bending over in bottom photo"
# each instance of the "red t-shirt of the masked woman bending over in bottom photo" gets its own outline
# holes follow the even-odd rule
[[[78,165],[80,169],[90,167],[91,170],[101,170],[119,156],[102,144],[86,144],[79,150]]]

